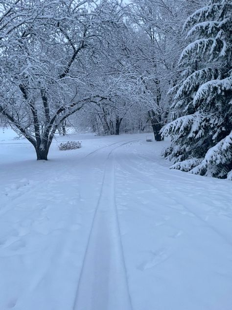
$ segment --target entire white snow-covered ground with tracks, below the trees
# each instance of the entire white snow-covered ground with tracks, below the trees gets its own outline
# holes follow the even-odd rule
[[[232,310],[232,181],[169,170],[146,134],[36,161],[0,131],[0,310]]]

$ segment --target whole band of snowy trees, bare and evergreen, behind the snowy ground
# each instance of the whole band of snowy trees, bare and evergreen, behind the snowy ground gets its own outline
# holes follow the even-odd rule
[[[232,179],[231,0],[3,0],[0,85],[37,159],[70,117],[150,124],[172,168]]]

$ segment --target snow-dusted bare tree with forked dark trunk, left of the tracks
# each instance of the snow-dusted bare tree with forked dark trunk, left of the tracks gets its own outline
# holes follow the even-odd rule
[[[3,1],[0,113],[47,159],[56,129],[96,96],[86,59],[98,42],[93,1]],[[92,55],[93,56],[93,55]]]

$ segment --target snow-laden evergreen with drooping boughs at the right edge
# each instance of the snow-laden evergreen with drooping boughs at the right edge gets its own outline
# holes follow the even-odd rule
[[[232,1],[209,1],[186,20],[187,30],[163,155],[171,168],[232,180]]]

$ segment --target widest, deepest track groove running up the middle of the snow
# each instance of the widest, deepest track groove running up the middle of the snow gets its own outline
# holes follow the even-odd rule
[[[83,260],[73,310],[132,310],[115,204],[112,153],[105,163],[101,190]]]

